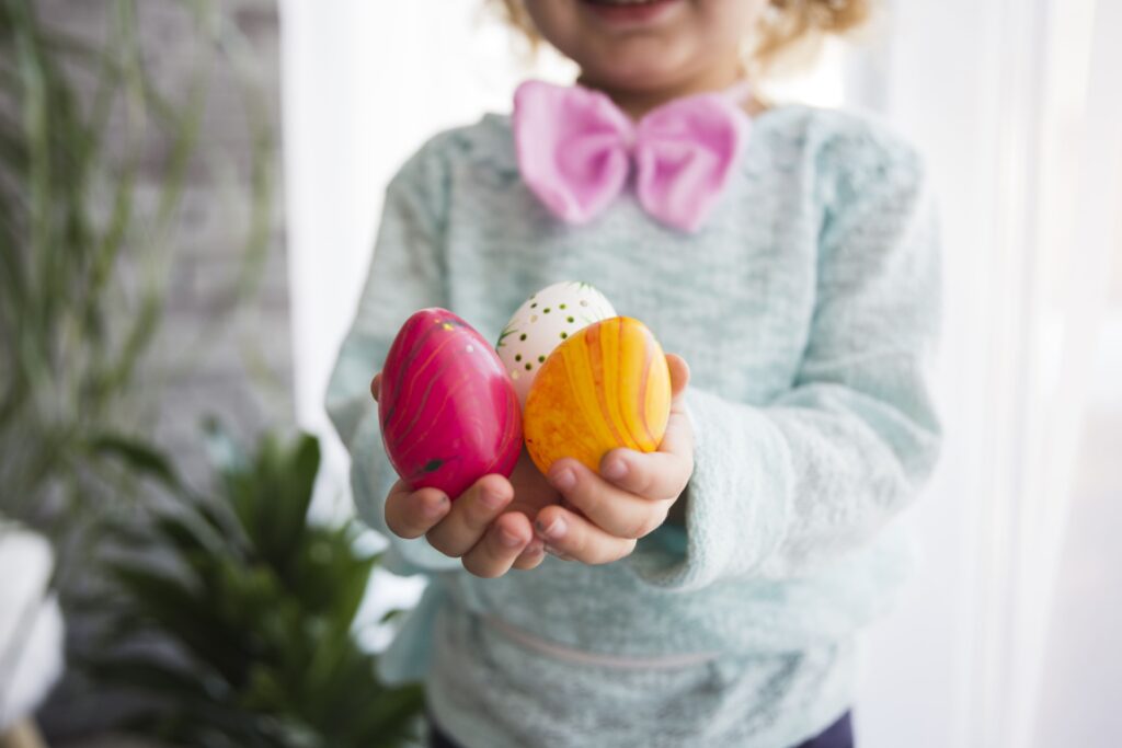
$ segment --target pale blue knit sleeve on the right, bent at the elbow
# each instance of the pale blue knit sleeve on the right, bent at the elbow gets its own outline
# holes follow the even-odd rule
[[[865,144],[839,161],[824,188],[799,371],[763,407],[688,390],[696,467],[680,499],[684,550],[641,542],[629,563],[651,584],[811,571],[871,542],[934,468],[940,428],[926,366],[939,256],[922,169],[900,144]]]

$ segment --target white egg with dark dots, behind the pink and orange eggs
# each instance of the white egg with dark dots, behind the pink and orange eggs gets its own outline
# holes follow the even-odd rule
[[[558,345],[594,322],[616,316],[604,294],[587,283],[548,286],[518,307],[495,347],[525,405],[530,386]]]

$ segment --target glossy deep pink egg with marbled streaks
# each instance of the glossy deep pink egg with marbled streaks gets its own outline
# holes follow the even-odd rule
[[[503,362],[447,310],[422,310],[397,333],[378,417],[397,474],[452,499],[489,473],[509,477],[522,452],[522,412]]]

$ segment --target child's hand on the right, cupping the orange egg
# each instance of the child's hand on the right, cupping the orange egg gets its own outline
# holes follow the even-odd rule
[[[542,509],[534,521],[550,553],[587,564],[623,558],[637,538],[665,521],[686,489],[693,473],[693,428],[682,398],[690,370],[681,357],[666,361],[674,399],[657,452],[613,450],[600,461],[603,478],[577,460],[553,463],[549,479],[563,501]]]

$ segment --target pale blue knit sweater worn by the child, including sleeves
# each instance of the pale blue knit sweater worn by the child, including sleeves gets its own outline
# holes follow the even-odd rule
[[[787,748],[852,707],[854,637],[905,576],[888,523],[938,451],[925,382],[939,258],[914,151],[864,118],[756,118],[696,234],[628,194],[594,223],[522,183],[508,119],[433,138],[398,173],[328,406],[387,567],[432,579],[384,657],[425,678],[466,748]],[[443,306],[495,340],[533,292],[592,283],[689,362],[684,528],[604,566],[546,557],[481,580],[392,536],[370,377],[405,318]]]

